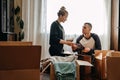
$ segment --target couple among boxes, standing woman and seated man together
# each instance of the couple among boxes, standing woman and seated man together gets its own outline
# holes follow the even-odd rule
[[[64,40],[65,32],[60,23],[64,23],[67,20],[68,11],[65,7],[61,7],[57,15],[58,19],[51,24],[50,29],[49,53],[51,56],[65,56],[63,53],[64,44],[71,46],[74,52],[77,51],[88,55],[93,54],[94,50],[101,50],[101,42],[98,35],[91,33],[91,23],[84,23],[83,34],[77,38],[76,43]]]

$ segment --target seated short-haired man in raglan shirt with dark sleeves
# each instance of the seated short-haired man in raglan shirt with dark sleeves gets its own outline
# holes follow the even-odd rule
[[[82,28],[83,34],[77,38],[76,44],[73,44],[72,49],[74,52],[78,52],[78,54],[91,56],[91,63],[94,65],[94,50],[101,50],[101,42],[98,35],[91,33],[91,30],[91,23],[84,23]],[[83,57],[78,56],[78,59],[83,59]],[[96,74],[95,67],[92,68],[93,73]]]

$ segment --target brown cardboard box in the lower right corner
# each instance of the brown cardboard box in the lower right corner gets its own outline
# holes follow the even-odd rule
[[[120,80],[120,52],[107,56],[107,80]]]

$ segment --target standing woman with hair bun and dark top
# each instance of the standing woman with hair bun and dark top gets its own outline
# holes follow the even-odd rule
[[[63,26],[60,24],[61,22],[64,23],[67,20],[68,12],[65,7],[61,7],[57,15],[58,19],[51,24],[49,53],[51,56],[64,56],[63,45],[72,45],[72,42],[64,40],[65,32]]]

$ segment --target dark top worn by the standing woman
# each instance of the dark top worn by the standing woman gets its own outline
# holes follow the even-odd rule
[[[58,21],[51,24],[50,29],[50,48],[49,53],[51,56],[61,56],[63,54],[63,44],[60,44],[60,39],[64,40],[65,32],[62,25]]]

